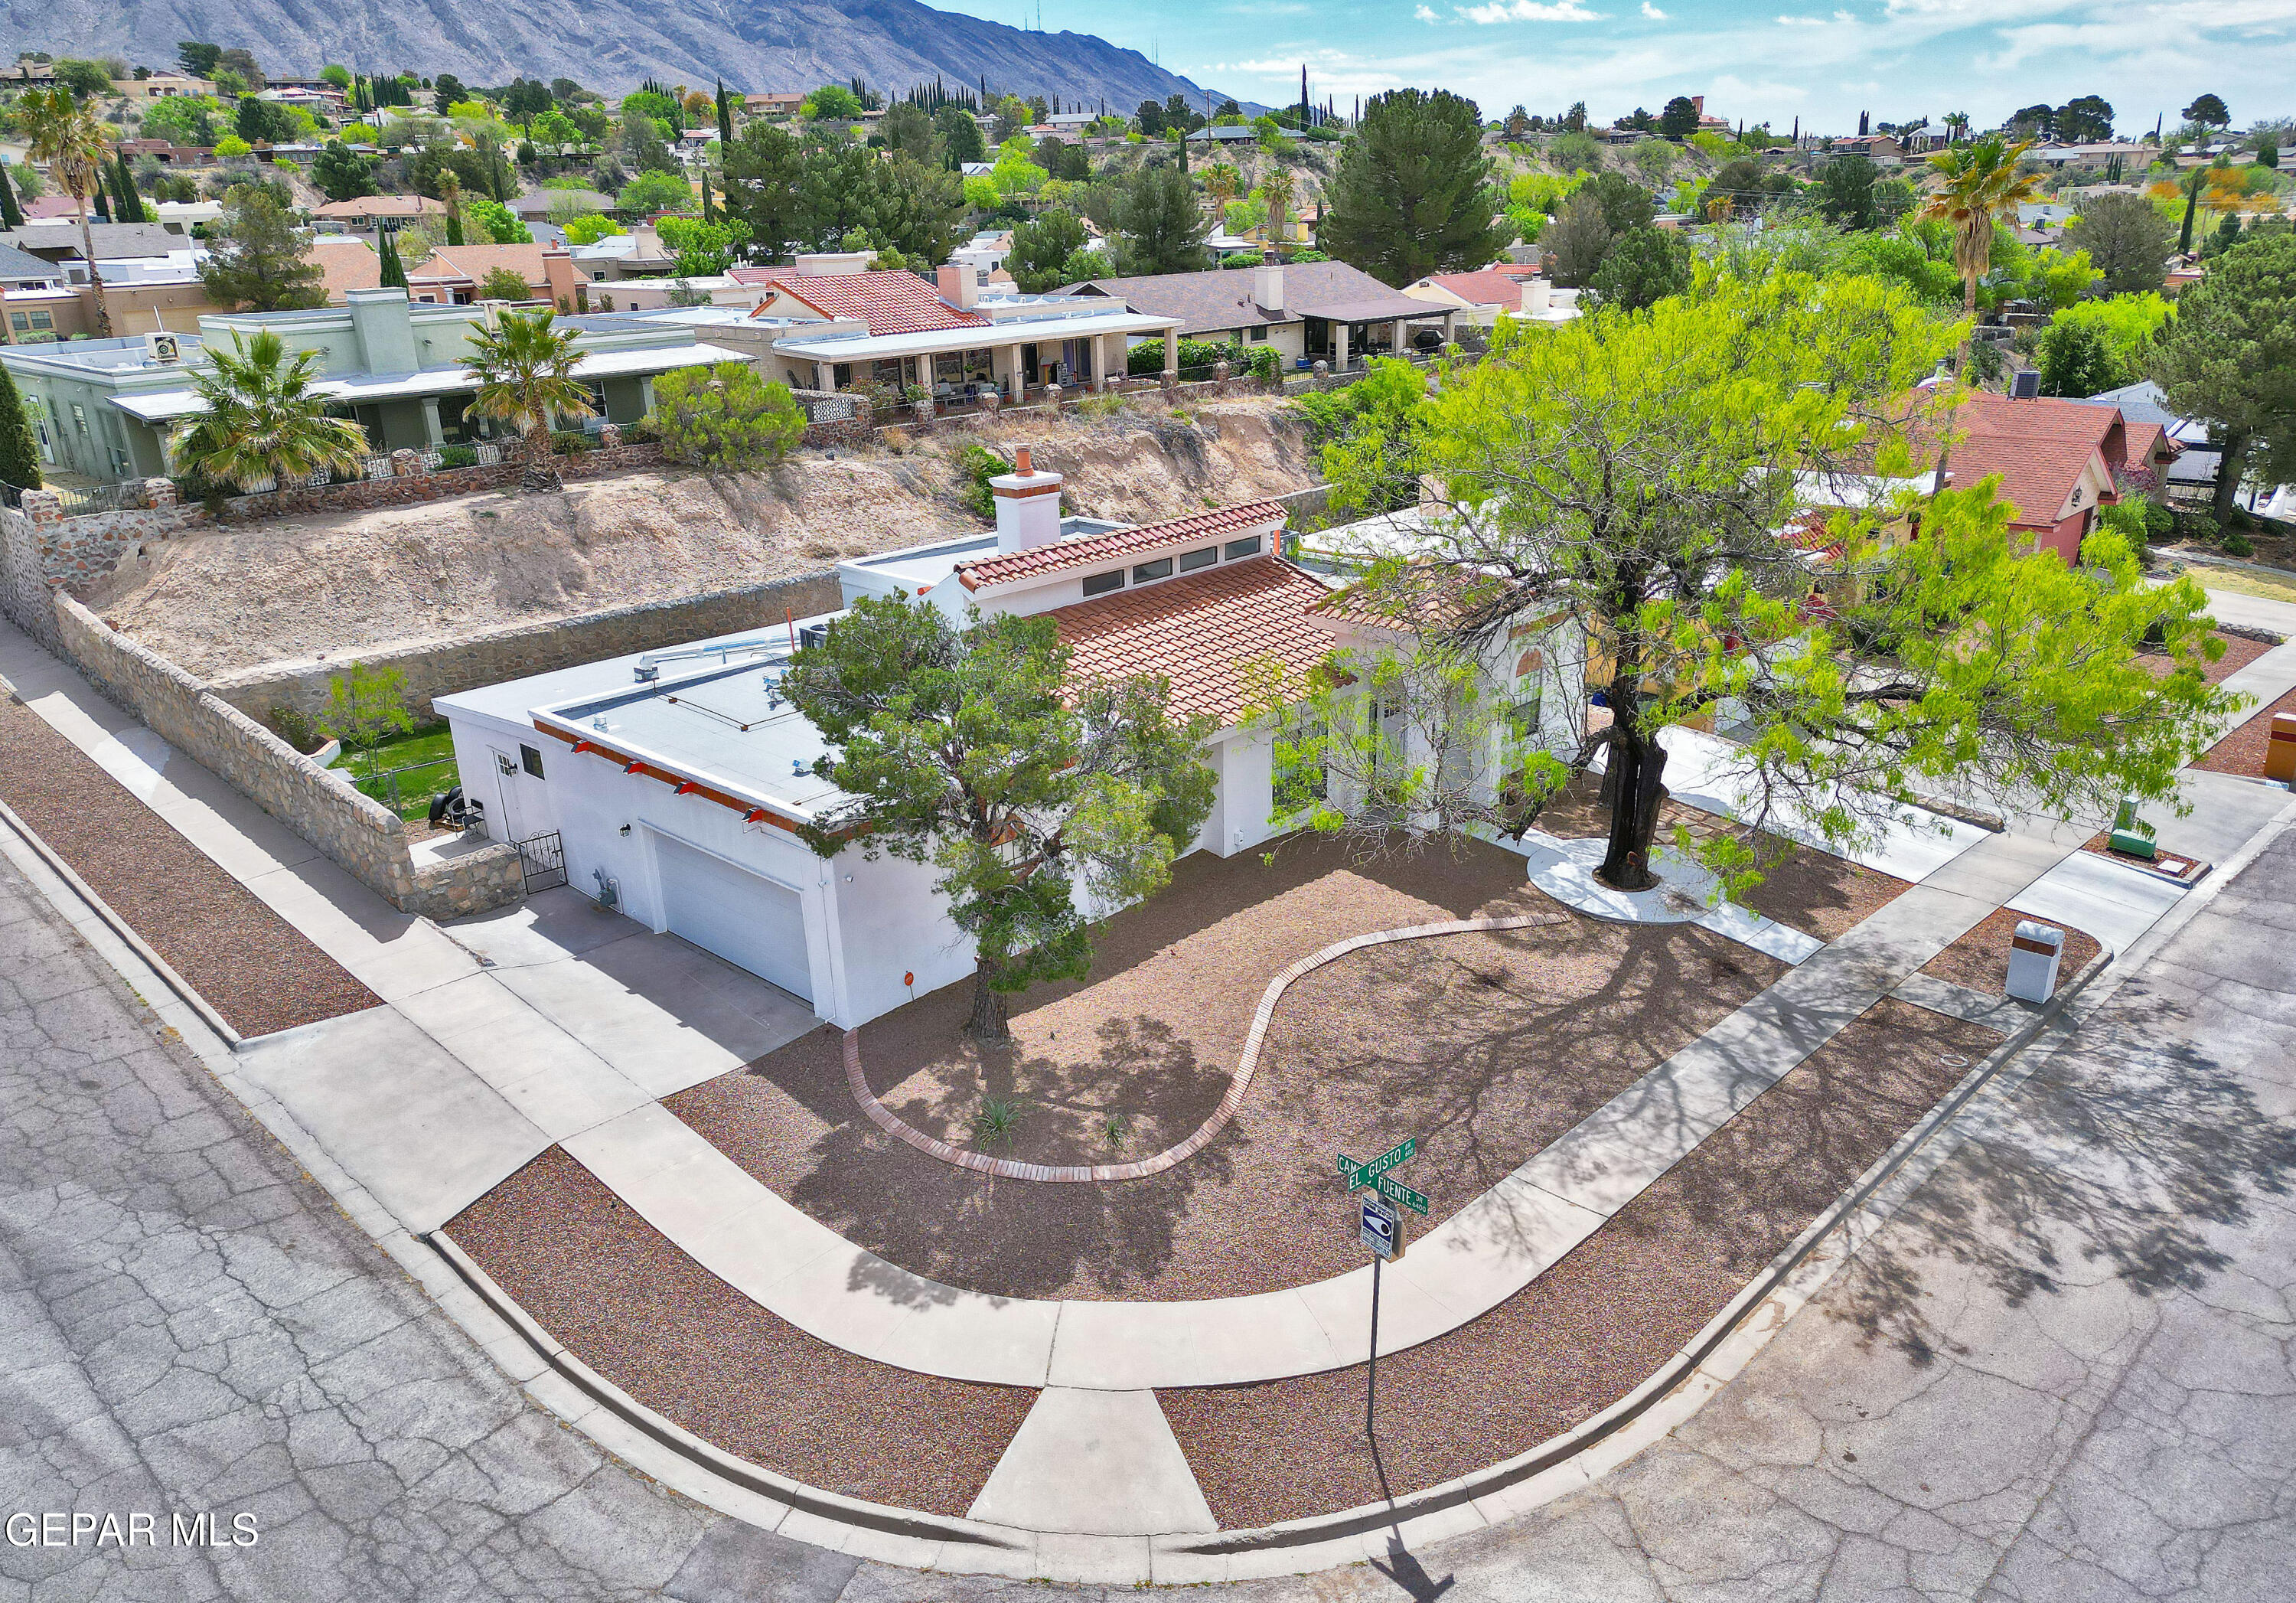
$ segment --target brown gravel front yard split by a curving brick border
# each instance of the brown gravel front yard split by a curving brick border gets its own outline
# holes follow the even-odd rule
[[[1185,1100],[1157,1102],[1157,1116],[1192,1128],[1217,1102],[1279,967],[1343,935],[1479,912],[1552,921],[1394,942],[1309,974],[1277,1008],[1235,1121],[1148,1180],[992,1180],[893,1141],[854,1107],[827,1029],[668,1107],[813,1217],[932,1279],[1026,1298],[1300,1286],[1357,1259],[1339,1229],[1334,1151],[1368,1157],[1417,1135],[1412,1185],[1446,1217],[1782,967],[1692,926],[1582,919],[1525,884],[1522,859],[1497,847],[1348,864],[1329,843],[1290,841],[1272,868],[1258,857],[1182,861],[1164,896],[1111,921],[1091,990],[1031,992],[1015,1017],[1031,1054],[1075,1050],[1093,1072],[1109,1054],[1116,1084],[1169,1077]],[[877,1084],[895,1082],[886,1100],[902,1116],[923,1093],[909,1093],[895,1052],[955,1059],[962,1001],[962,988],[928,997],[861,1031],[863,1061]],[[1061,1043],[1038,1015],[1070,1022]]]

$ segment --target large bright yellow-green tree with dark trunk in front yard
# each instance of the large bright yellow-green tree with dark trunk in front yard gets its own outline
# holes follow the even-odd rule
[[[1791,811],[1835,847],[1936,792],[2087,815],[2177,795],[2236,698],[2202,675],[2218,655],[2204,593],[2147,586],[2124,535],[2092,535],[2066,565],[2011,537],[1991,485],[1908,489],[1832,517],[1841,556],[1812,602],[1795,485],[1910,473],[1919,436],[1885,420],[1949,338],[1899,287],[1775,273],[1504,338],[1449,379],[1417,427],[1430,542],[1375,565],[1359,611],[1486,661],[1518,625],[1541,629],[1612,719],[1522,753],[1483,797],[1375,802],[1419,838],[1520,834],[1600,753],[1600,877],[1644,889],[1662,733],[1708,714],[1738,728],[1750,822]],[[1883,537],[1915,508],[1919,537]],[[2140,661],[2147,638],[2165,677]],[[1731,836],[1678,831],[1676,850],[1729,891],[1759,873]]]

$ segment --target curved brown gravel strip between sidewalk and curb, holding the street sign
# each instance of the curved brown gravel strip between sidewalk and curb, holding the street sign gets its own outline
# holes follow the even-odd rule
[[[1511,1458],[1630,1392],[1998,1045],[1880,1001],[1515,1298],[1382,1357],[1391,1493]],[[1362,1366],[1157,1399],[1224,1527],[1382,1495]]]

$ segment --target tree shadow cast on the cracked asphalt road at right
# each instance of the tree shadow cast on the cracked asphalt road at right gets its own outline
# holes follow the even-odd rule
[[[2135,990],[2135,988],[2131,988]],[[2195,1045],[2167,997],[2115,999],[2018,1089],[2011,1116],[1975,1135],[1869,1242],[1837,1295],[1862,1343],[1915,1364],[1961,1353],[1931,1316],[1929,1268],[1972,1270],[2007,1307],[2103,1270],[2156,1298],[2232,1265],[2216,1231],[2252,1197],[2296,1180],[2296,1125],[2266,1114],[2243,1075]]]

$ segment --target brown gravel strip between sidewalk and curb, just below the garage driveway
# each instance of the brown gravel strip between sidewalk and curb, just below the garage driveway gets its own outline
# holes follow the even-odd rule
[[[448,1226],[641,1403],[806,1486],[962,1516],[1035,1401],[872,1364],[774,1318],[551,1148]]]

